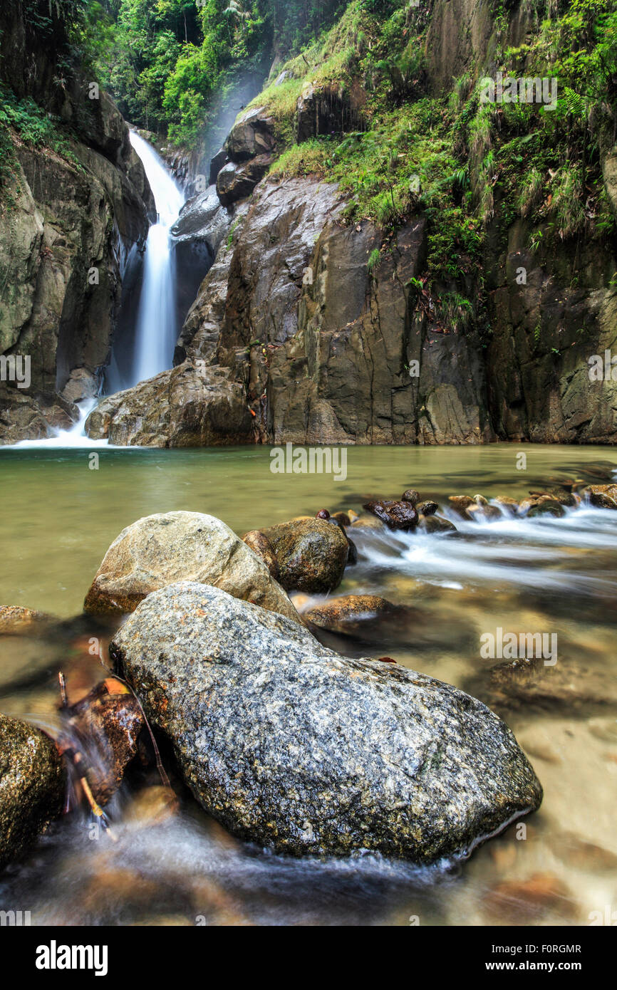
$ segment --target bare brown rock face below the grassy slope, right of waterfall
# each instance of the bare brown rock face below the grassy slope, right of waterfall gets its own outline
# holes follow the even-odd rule
[[[423,218],[369,272],[380,239],[370,224],[343,226],[345,205],[331,183],[261,181],[225,266],[215,262],[216,312],[206,276],[181,352],[230,368],[264,443],[492,439],[479,344],[436,333],[413,311]]]

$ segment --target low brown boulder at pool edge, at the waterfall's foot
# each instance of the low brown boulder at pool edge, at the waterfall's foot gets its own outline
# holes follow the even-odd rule
[[[242,387],[223,369],[185,361],[103,399],[85,431],[119,446],[247,444],[253,418]]]

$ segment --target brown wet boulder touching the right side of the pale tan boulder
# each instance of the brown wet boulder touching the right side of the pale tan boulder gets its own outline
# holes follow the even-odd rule
[[[324,519],[300,519],[260,532],[276,555],[286,591],[323,594],[341,583],[349,544],[339,526]]]

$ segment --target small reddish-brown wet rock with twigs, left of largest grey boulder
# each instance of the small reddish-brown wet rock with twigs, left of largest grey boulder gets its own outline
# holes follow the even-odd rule
[[[140,704],[126,685],[108,678],[62,715],[71,739],[79,741],[94,799],[106,805],[137,754],[146,724]]]

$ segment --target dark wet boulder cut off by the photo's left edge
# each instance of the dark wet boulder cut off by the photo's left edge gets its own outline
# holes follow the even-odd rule
[[[26,722],[0,715],[0,869],[60,814],[64,786],[55,744]]]

